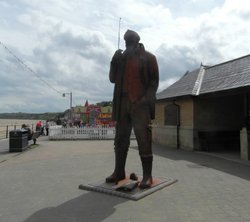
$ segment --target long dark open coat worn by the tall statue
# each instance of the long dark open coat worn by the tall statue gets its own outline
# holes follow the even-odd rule
[[[140,81],[143,85],[143,91],[139,94],[145,96],[147,104],[150,108],[151,119],[155,118],[155,101],[156,91],[159,85],[159,70],[156,57],[145,50],[143,44],[139,43],[135,49],[139,59]],[[124,53],[125,54],[125,53]],[[120,119],[121,97],[123,88],[123,79],[126,65],[126,56],[122,54],[121,50],[116,51],[112,58],[109,71],[110,82],[114,83],[113,93],[113,110],[112,118],[115,121]]]

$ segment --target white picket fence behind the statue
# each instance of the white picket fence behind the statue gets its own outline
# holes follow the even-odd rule
[[[91,139],[91,140],[108,140],[115,138],[115,127],[83,127],[83,128],[63,128],[50,127],[50,140],[74,140],[74,139]],[[135,138],[132,132],[131,138]]]

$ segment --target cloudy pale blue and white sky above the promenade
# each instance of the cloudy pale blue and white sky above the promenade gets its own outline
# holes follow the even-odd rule
[[[73,106],[111,101],[128,29],[156,56],[160,92],[249,54],[249,26],[248,0],[0,0],[0,113],[63,112],[70,93]]]

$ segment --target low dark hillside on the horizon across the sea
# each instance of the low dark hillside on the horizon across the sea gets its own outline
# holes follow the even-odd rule
[[[0,113],[0,119],[43,119],[56,120],[64,113]]]

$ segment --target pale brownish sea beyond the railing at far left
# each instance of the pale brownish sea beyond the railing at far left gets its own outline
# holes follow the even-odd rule
[[[5,139],[9,131],[21,129],[22,124],[28,125],[31,129],[35,129],[36,123],[41,119],[0,119],[0,139]],[[45,120],[41,120],[45,123]]]

